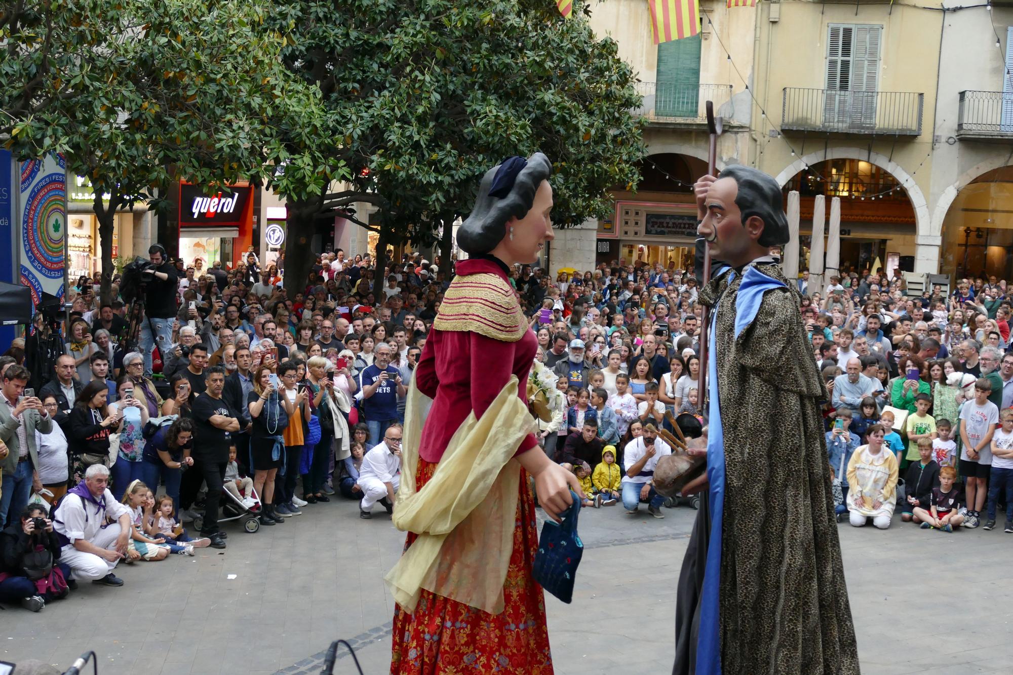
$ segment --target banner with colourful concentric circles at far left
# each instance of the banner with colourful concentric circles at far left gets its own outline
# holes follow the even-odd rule
[[[22,162],[16,215],[20,233],[20,280],[31,289],[31,304],[42,294],[63,300],[64,235],[67,229],[67,177],[63,157],[55,154]]]

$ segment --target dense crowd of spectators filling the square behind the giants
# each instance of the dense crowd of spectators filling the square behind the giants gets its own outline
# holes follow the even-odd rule
[[[224,270],[149,252],[136,340],[119,286],[103,303],[82,278],[49,372],[25,369],[23,341],[0,357],[0,602],[37,611],[77,581],[123,584],[120,561],[224,548],[223,502],[261,526],[331,498],[364,519],[378,502],[394,508],[407,386],[449,285],[439,260],[405,255],[375,292],[371,257],[341,250],[300,282],[284,278],[284,254],[261,268],[250,251]],[[674,502],[653,468],[672,448],[659,432],[703,419],[697,280],[638,260],[519,266],[511,283],[538,339],[533,368],[551,381],[545,452],[574,471],[588,506],[643,503],[664,518]],[[827,383],[842,518],[885,528],[900,505],[924,528],[992,529],[998,506],[1013,510],[1005,283],[910,297],[900,276],[856,271],[821,289],[803,274],[797,290]],[[48,565],[25,562],[40,550]]]

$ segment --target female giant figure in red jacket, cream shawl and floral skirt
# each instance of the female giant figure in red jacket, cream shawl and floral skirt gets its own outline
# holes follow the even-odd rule
[[[579,488],[532,433],[537,340],[508,281],[553,238],[551,168],[536,153],[487,171],[458,233],[470,257],[457,264],[408,393],[394,509],[408,537],[386,579],[397,601],[391,673],[552,672],[528,475],[556,520]]]

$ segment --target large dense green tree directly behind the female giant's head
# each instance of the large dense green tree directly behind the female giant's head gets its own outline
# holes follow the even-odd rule
[[[606,215],[609,189],[638,180],[645,149],[631,115],[640,103],[633,73],[614,41],[596,40],[583,17],[563,19],[552,3],[292,0],[276,3],[270,20],[288,29],[286,65],[333,114],[329,153],[352,176],[330,194],[280,185],[290,240],[293,230],[309,234],[317,215],[369,201],[380,226],[354,220],[382,241],[434,241],[438,223],[446,231],[468,213],[484,170],[536,150],[554,162],[562,226]],[[448,244],[445,236],[445,261]],[[289,249],[287,272],[305,279],[310,255]]]

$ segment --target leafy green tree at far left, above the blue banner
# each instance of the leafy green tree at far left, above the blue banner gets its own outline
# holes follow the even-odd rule
[[[116,211],[138,202],[164,208],[179,179],[225,193],[237,181],[267,181],[289,160],[280,130],[312,134],[326,115],[318,90],[281,65],[284,38],[263,27],[267,3],[112,2],[89,8],[114,10],[112,32],[127,38],[87,54],[89,76],[62,85],[74,95],[34,114],[13,138],[22,155],[64,153],[68,171],[91,180],[103,302]],[[302,157],[310,159],[328,161],[312,148]],[[300,175],[299,166],[286,170]]]

